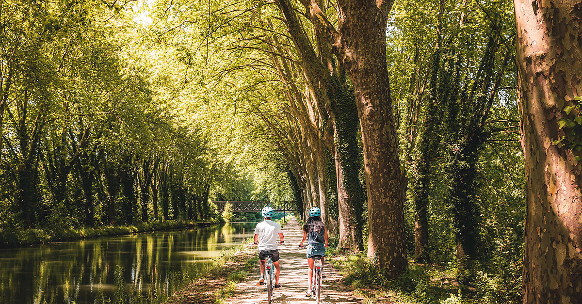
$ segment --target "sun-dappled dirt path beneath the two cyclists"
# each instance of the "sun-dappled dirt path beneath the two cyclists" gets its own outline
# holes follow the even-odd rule
[[[285,245],[279,245],[281,256],[281,278],[279,283],[283,285],[281,289],[274,291],[274,301],[272,303],[314,303],[313,297],[306,297],[307,289],[307,259],[305,249],[299,248],[303,231],[296,219],[290,220],[283,227],[285,235]],[[325,264],[325,274],[321,288],[320,303],[362,303],[363,298],[354,296],[349,287],[342,283],[342,275],[338,270]],[[259,304],[267,303],[267,292],[262,287],[255,284],[260,276],[258,266],[249,274],[246,280],[237,284],[235,295],[226,300],[233,304]]]

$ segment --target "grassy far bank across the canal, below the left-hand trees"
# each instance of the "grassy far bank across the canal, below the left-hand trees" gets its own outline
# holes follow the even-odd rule
[[[130,235],[141,232],[163,231],[220,224],[219,221],[163,221],[136,225],[84,227],[77,229],[0,229],[0,248],[15,248],[42,243],[78,241],[103,236]]]

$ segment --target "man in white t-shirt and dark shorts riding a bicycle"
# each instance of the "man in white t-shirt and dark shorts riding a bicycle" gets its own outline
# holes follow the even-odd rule
[[[277,235],[279,235],[279,244],[283,242],[283,231],[281,230],[281,225],[271,218],[275,214],[273,208],[265,206],[261,210],[262,218],[264,221],[257,224],[255,227],[254,243],[258,245],[258,258],[261,260],[261,278],[258,280],[257,285],[261,285],[265,281],[265,259],[267,257],[265,254],[272,254],[273,257],[271,261],[275,266],[275,289],[281,288],[279,284],[279,249],[277,249]]]

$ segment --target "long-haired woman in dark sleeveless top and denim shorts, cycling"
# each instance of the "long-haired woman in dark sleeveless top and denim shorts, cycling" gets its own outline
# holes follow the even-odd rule
[[[321,266],[324,266],[325,248],[328,246],[327,229],[324,222],[321,220],[321,210],[318,207],[313,207],[309,210],[309,219],[303,225],[303,239],[299,247],[303,248],[303,242],[307,241],[307,264],[309,271],[307,271],[307,292],[306,296],[311,296],[311,277],[313,277],[313,256],[321,256]],[[321,276],[325,278],[323,269]]]

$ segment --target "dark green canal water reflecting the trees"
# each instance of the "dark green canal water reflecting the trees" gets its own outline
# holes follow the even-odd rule
[[[0,303],[155,303],[251,236],[255,222],[0,249]],[[114,301],[111,301],[112,303]]]

